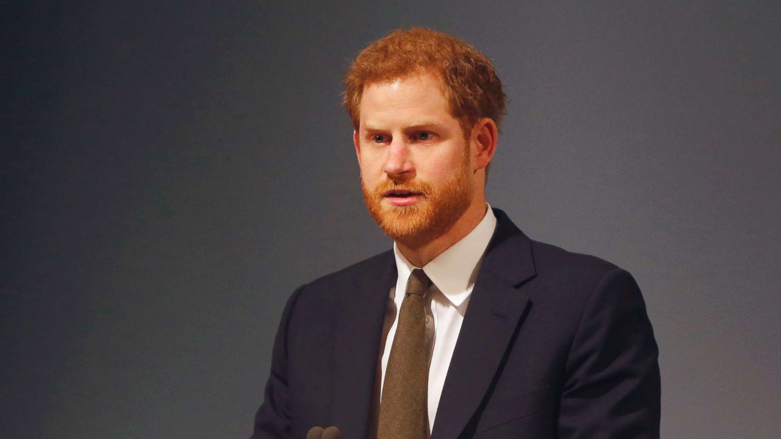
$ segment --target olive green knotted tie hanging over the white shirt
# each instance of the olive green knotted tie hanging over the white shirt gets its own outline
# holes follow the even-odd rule
[[[398,315],[380,402],[378,439],[427,437],[429,348],[426,345],[426,300],[431,280],[413,269]]]

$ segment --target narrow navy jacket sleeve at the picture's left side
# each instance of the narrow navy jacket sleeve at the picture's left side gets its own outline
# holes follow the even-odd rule
[[[280,327],[276,330],[271,354],[271,372],[266,381],[264,400],[255,413],[255,429],[250,439],[282,439],[291,437],[291,402],[287,391],[287,330],[293,307],[303,287],[298,287],[287,299]]]

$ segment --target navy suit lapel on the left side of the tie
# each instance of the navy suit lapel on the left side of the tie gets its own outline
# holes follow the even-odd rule
[[[377,259],[360,274],[355,291],[344,294],[337,318],[332,413],[342,437],[366,437],[373,405],[385,309],[396,280],[393,252]]]

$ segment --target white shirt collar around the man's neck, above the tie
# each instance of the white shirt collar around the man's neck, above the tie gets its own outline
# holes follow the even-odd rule
[[[477,226],[460,241],[437,255],[423,267],[423,272],[455,306],[460,306],[472,292],[478,264],[496,228],[496,216],[487,204],[486,214]],[[398,245],[393,244],[398,272],[397,289],[406,285],[409,274],[417,268],[409,262]]]

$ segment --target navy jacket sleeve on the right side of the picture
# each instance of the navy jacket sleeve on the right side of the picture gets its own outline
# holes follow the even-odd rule
[[[565,366],[562,439],[658,439],[658,347],[640,288],[605,273],[583,309]]]

